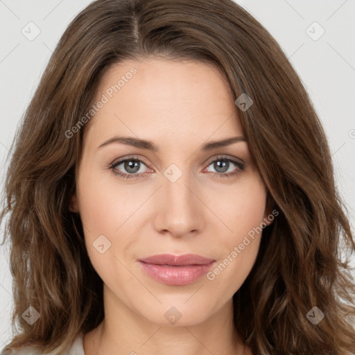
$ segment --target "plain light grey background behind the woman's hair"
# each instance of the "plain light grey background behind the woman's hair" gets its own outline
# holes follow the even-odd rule
[[[0,0],[0,159],[1,189],[8,149],[55,45],[89,0]],[[236,1],[275,37],[309,92],[329,138],[336,180],[355,220],[355,0]],[[35,27],[40,35],[28,40]],[[324,35],[306,33],[314,21]],[[29,27],[32,26],[32,27]],[[309,28],[313,38],[321,28]],[[3,225],[1,226],[1,237]],[[0,250],[0,349],[10,338],[12,306],[8,252]],[[355,275],[355,274],[354,274]]]

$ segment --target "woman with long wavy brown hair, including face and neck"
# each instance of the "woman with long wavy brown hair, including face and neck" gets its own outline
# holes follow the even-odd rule
[[[230,0],[80,12],[6,202],[21,330],[4,354],[355,353],[327,139],[279,45]]]

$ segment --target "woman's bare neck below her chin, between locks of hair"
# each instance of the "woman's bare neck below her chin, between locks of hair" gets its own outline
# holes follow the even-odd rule
[[[251,354],[236,336],[232,300],[198,324],[162,325],[143,318],[107,292],[105,319],[84,336],[85,355]]]

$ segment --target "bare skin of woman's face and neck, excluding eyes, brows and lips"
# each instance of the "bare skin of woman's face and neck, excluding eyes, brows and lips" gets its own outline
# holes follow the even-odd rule
[[[234,335],[232,296],[252,269],[261,235],[212,281],[204,276],[169,286],[137,262],[153,254],[192,253],[218,265],[270,214],[246,141],[200,150],[207,141],[243,136],[235,98],[214,67],[159,58],[114,64],[96,98],[132,67],[135,76],[85,127],[72,198],[104,284],[105,320],[85,334],[85,354],[251,354]],[[159,152],[121,143],[98,149],[114,135],[148,139]],[[145,162],[140,177],[124,180],[110,166],[129,155]],[[230,163],[227,172],[218,172],[211,163],[216,158],[237,159],[245,168]],[[171,164],[182,172],[176,182],[164,175]],[[115,169],[129,175],[124,164]],[[218,178],[233,171],[239,174]],[[103,254],[93,246],[101,235],[111,243]],[[175,324],[164,317],[172,306],[181,314]]]

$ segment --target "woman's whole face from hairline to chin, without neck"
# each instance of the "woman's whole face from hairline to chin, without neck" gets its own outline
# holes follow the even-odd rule
[[[202,62],[148,58],[105,73],[73,200],[105,285],[106,316],[118,307],[156,324],[189,325],[230,307],[268,215],[234,100]],[[239,139],[211,145],[232,137]],[[159,254],[172,257],[141,261]],[[209,260],[173,258],[184,254]]]

